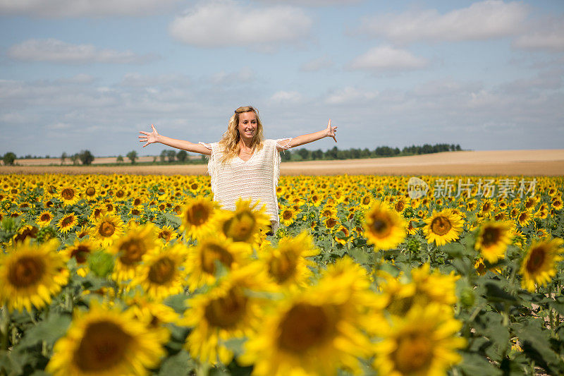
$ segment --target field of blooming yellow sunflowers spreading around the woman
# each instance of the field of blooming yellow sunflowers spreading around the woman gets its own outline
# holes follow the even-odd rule
[[[0,175],[0,375],[564,374],[564,177],[416,180]]]

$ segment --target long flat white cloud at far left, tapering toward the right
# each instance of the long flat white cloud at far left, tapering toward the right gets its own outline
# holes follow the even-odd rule
[[[10,47],[7,54],[16,60],[68,64],[145,63],[156,58],[152,55],[137,55],[132,51],[99,49],[92,44],[71,44],[53,38],[26,40]]]

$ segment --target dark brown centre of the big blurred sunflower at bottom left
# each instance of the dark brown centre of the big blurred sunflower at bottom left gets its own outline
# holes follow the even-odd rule
[[[127,362],[133,338],[114,322],[93,322],[85,330],[74,360],[83,372],[105,372]]]

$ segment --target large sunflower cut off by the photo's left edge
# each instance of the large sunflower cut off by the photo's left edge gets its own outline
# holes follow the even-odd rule
[[[43,308],[61,291],[68,281],[68,269],[58,247],[56,239],[37,245],[27,238],[9,253],[0,253],[0,302],[8,310],[31,312],[32,305]]]

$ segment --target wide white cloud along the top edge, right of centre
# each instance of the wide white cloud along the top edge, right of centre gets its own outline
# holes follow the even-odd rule
[[[360,31],[396,42],[486,40],[516,35],[526,16],[521,2],[488,0],[444,14],[432,9],[364,18]]]

